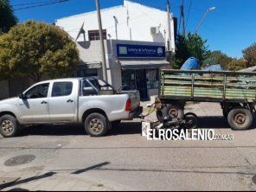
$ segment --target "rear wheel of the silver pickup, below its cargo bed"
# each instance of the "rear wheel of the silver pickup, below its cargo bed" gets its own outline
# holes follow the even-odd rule
[[[85,120],[85,129],[88,135],[91,137],[100,137],[106,135],[108,130],[108,122],[104,115],[94,112]]]

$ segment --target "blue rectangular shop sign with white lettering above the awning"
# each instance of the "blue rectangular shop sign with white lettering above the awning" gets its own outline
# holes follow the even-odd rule
[[[164,46],[117,44],[118,58],[163,58]]]

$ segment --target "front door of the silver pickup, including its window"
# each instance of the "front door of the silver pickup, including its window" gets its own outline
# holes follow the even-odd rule
[[[20,123],[49,123],[48,87],[49,83],[37,84],[24,93],[24,99],[18,100]]]

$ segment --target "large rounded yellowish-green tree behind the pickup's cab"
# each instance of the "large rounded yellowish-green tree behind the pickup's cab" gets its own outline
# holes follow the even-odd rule
[[[79,62],[75,43],[65,31],[44,22],[28,21],[0,36],[0,73],[3,78],[29,75],[40,81],[67,77]]]

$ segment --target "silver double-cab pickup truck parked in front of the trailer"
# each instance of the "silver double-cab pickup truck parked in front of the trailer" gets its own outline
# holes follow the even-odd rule
[[[116,91],[99,78],[45,80],[0,101],[0,133],[10,138],[22,125],[80,123],[90,136],[104,136],[121,119],[138,117],[139,104],[137,90]]]

